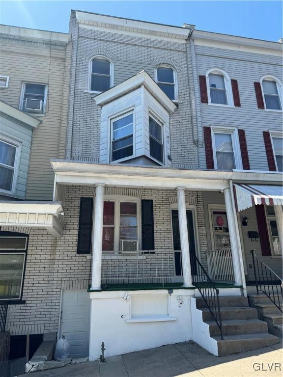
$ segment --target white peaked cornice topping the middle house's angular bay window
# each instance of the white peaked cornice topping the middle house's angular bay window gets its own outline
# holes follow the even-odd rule
[[[144,85],[146,89],[153,95],[153,97],[170,113],[173,113],[176,109],[176,105],[170,100],[170,98],[164,93],[157,83],[152,80],[146,71],[142,71],[130,79],[127,79],[120,84],[113,86],[105,92],[98,94],[94,97],[96,105],[103,106],[114,99],[125,95]]]

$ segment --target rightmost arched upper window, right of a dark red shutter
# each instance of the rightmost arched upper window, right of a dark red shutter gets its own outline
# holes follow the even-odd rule
[[[264,76],[260,80],[266,109],[282,110],[282,85],[273,76]]]

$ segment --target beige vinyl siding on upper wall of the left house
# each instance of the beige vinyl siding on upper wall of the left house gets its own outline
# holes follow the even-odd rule
[[[44,115],[37,115],[42,122],[32,135],[26,199],[51,200],[54,173],[49,160],[64,157],[65,149],[66,110],[62,112],[62,105],[66,108],[68,99],[66,46],[3,38],[0,53],[1,74],[10,77],[8,88],[0,90],[2,101],[19,108],[23,82],[48,85],[46,111]],[[60,142],[60,136],[63,142]]]

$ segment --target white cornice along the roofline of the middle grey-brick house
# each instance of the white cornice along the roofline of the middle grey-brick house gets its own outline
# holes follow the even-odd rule
[[[191,29],[76,11],[81,27],[185,43]]]

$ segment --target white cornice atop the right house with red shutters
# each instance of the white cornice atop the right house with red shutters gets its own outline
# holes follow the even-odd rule
[[[192,39],[198,46],[282,56],[281,42],[264,41],[261,39],[245,38],[202,30],[193,30]]]

